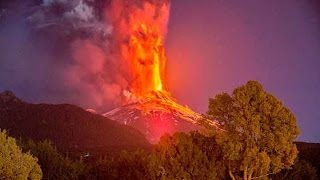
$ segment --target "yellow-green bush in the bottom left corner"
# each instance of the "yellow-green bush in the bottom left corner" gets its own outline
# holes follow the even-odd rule
[[[41,179],[37,158],[23,153],[16,140],[0,131],[0,179]]]

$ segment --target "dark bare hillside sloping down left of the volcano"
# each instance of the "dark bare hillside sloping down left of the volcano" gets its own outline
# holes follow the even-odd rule
[[[116,152],[148,148],[142,133],[80,107],[29,104],[0,93],[0,129],[16,138],[48,139],[62,152]]]

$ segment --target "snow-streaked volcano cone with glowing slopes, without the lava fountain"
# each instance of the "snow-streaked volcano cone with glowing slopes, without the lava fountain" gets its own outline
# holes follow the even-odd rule
[[[142,132],[155,144],[164,134],[201,130],[201,122],[219,129],[214,121],[176,102],[167,92],[151,92],[141,97],[131,97],[129,102],[103,114],[109,119],[129,125]]]

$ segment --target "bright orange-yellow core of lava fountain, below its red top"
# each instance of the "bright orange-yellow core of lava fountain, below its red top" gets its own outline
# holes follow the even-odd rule
[[[159,28],[141,23],[132,26],[129,59],[133,71],[132,92],[144,95],[164,90],[166,56]]]

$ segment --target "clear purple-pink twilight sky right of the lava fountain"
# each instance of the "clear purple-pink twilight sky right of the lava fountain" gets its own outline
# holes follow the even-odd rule
[[[208,98],[260,81],[298,119],[298,140],[320,142],[320,3],[317,0],[174,0],[168,86],[206,112]]]

